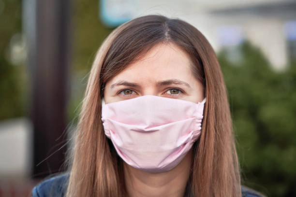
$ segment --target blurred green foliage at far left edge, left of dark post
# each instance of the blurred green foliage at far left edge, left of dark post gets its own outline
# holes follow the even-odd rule
[[[9,62],[11,38],[21,31],[21,1],[0,0],[0,120],[23,116],[24,65]]]

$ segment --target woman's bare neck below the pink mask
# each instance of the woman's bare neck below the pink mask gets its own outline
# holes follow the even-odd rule
[[[129,197],[183,197],[189,180],[192,149],[174,168],[149,173],[124,163],[124,179]]]

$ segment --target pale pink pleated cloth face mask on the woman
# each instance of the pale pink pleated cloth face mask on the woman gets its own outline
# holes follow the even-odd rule
[[[105,135],[130,166],[154,173],[168,171],[199,138],[205,101],[151,95],[109,104],[103,100]]]

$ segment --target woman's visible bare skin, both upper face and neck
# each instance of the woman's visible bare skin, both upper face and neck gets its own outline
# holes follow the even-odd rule
[[[159,43],[139,61],[106,83],[105,103],[154,95],[201,102],[203,85],[194,78],[190,57],[174,43]],[[183,197],[190,176],[192,150],[174,168],[148,173],[124,163],[130,197]]]

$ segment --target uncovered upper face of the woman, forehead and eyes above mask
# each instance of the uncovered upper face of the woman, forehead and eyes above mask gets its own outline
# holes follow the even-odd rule
[[[190,57],[178,45],[159,43],[106,83],[104,101],[154,95],[201,102],[203,85],[194,78],[191,64]]]

